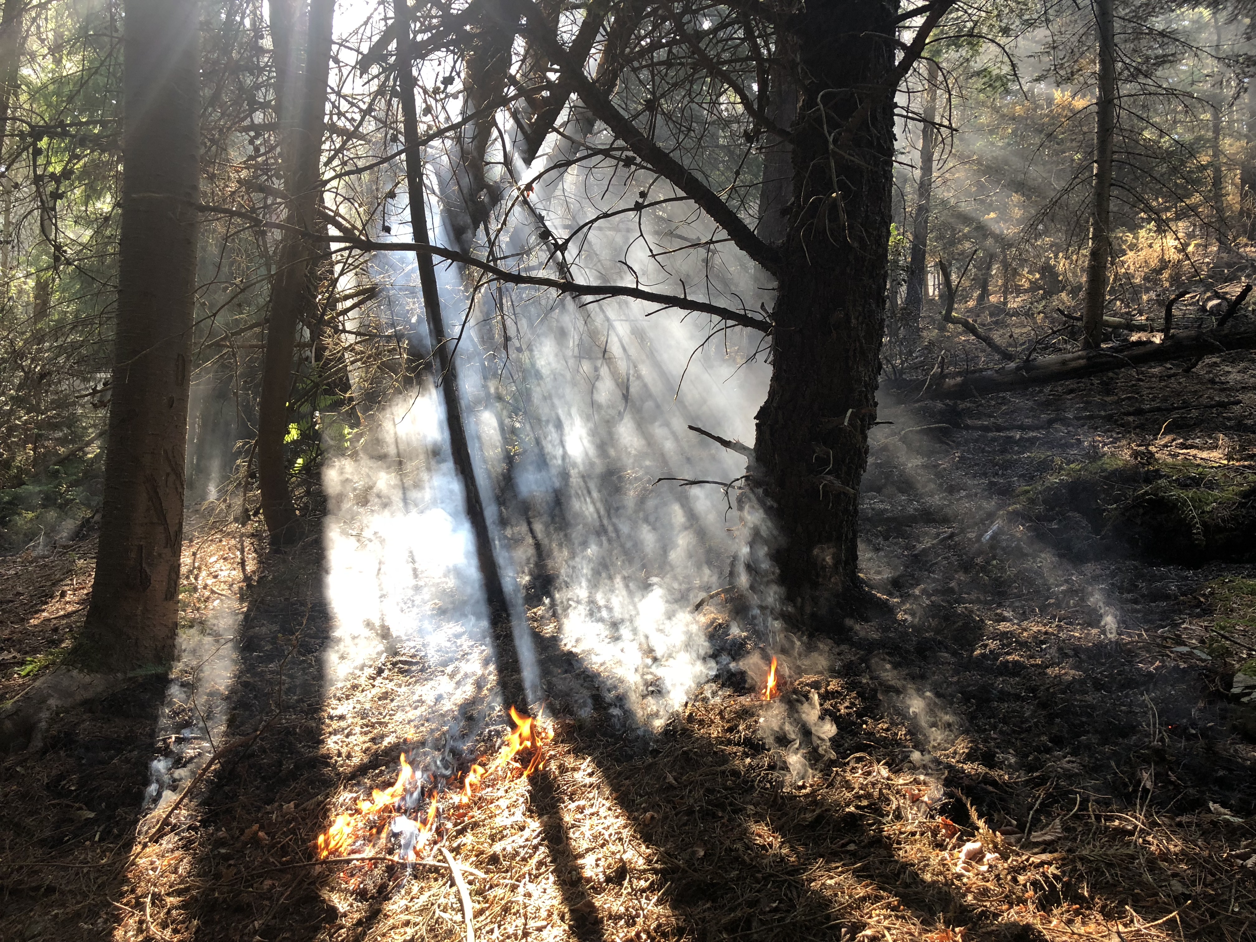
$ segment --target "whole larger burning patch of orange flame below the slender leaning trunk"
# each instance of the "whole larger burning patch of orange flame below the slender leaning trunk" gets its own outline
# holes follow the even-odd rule
[[[318,836],[318,855],[320,860],[330,857],[387,857],[388,835],[398,839],[398,858],[417,860],[418,850],[432,840],[436,828],[445,816],[455,816],[458,805],[467,805],[490,776],[514,769],[526,777],[545,764],[545,730],[530,716],[524,716],[510,707],[510,718],[515,728],[506,735],[506,741],[492,760],[486,764],[475,762],[462,776],[457,788],[450,780],[426,782],[406,759],[401,756],[401,770],[397,781],[388,789],[374,789],[369,799],[358,799],[358,810],[335,816],[332,826]],[[520,752],[531,752],[528,765],[511,765]],[[426,794],[425,794],[426,793]],[[441,803],[442,798],[451,801]],[[426,799],[427,811],[420,809]],[[450,805],[453,808],[450,808]],[[409,813],[414,816],[411,818]],[[369,865],[369,864],[365,864]]]

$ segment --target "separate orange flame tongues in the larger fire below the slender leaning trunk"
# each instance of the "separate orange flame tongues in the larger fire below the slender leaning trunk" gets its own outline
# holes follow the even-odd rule
[[[515,728],[506,735],[506,742],[501,751],[491,762],[474,764],[463,779],[462,788],[457,793],[457,804],[467,804],[479,791],[480,786],[494,772],[497,772],[510,764],[510,761],[525,749],[531,750],[528,766],[521,770],[524,777],[531,775],[545,764],[545,730],[530,716],[524,716],[515,707],[510,707],[510,718],[515,721]],[[401,756],[401,770],[397,772],[397,781],[392,788],[374,789],[369,799],[358,799],[357,814],[340,814],[335,816],[332,826],[318,836],[318,855],[325,860],[333,855],[349,855],[354,845],[363,838],[368,839],[368,848],[360,853],[369,857],[378,852],[374,844],[382,848],[388,833],[388,825],[377,825],[373,819],[383,811],[393,809],[397,803],[406,796],[407,791],[418,788],[418,776],[406,761],[404,754]],[[418,821],[418,840],[407,854],[407,859],[414,859],[414,848],[422,847],[436,825],[438,793],[433,791],[427,808],[427,819]]]

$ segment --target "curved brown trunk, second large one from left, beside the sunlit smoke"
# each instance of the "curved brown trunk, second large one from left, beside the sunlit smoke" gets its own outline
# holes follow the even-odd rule
[[[286,221],[290,226],[314,232],[315,214],[322,200],[319,157],[323,152],[335,4],[333,0],[310,0],[304,68],[300,70],[296,68],[294,51],[298,45],[298,18],[291,3],[273,0],[270,9],[275,36],[280,148],[289,200]],[[290,421],[288,401],[293,388],[296,325],[301,315],[310,311],[314,300],[309,285],[314,255],[311,237],[285,234],[270,294],[270,319],[257,407],[257,489],[273,549],[301,535],[300,520],[288,489],[284,438]]]

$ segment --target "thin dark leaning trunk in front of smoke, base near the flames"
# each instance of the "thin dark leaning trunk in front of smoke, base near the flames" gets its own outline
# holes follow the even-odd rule
[[[403,142],[406,146],[406,185],[409,202],[411,229],[413,240],[420,245],[428,244],[427,205],[423,190],[422,147],[418,143],[418,107],[414,100],[414,70],[411,60],[409,9],[406,0],[393,0],[393,15],[406,21],[397,43],[397,80],[401,92],[403,121]],[[471,448],[467,441],[466,425],[462,420],[462,399],[458,391],[457,364],[453,357],[455,338],[445,329],[441,311],[441,293],[436,284],[436,268],[427,252],[414,252],[418,264],[418,279],[423,293],[423,314],[432,342],[432,355],[436,365],[436,379],[445,403],[445,417],[450,433],[450,452],[453,470],[462,484],[466,501],[467,521],[475,535],[476,561],[484,580],[484,593],[489,604],[489,617],[492,627],[494,656],[497,663],[497,677],[506,703],[520,707],[526,705],[519,654],[515,648],[510,604],[506,589],[497,568],[497,558],[492,548],[492,534],[485,515],[484,497],[475,476],[471,461]]]

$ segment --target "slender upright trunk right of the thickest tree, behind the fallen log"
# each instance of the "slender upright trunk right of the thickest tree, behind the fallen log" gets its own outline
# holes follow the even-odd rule
[[[1108,300],[1108,256],[1112,251],[1112,158],[1117,132],[1117,39],[1113,0],[1095,0],[1099,55],[1099,99],[1095,106],[1095,166],[1090,197],[1090,252],[1081,309],[1085,345],[1103,344],[1103,309]]]

